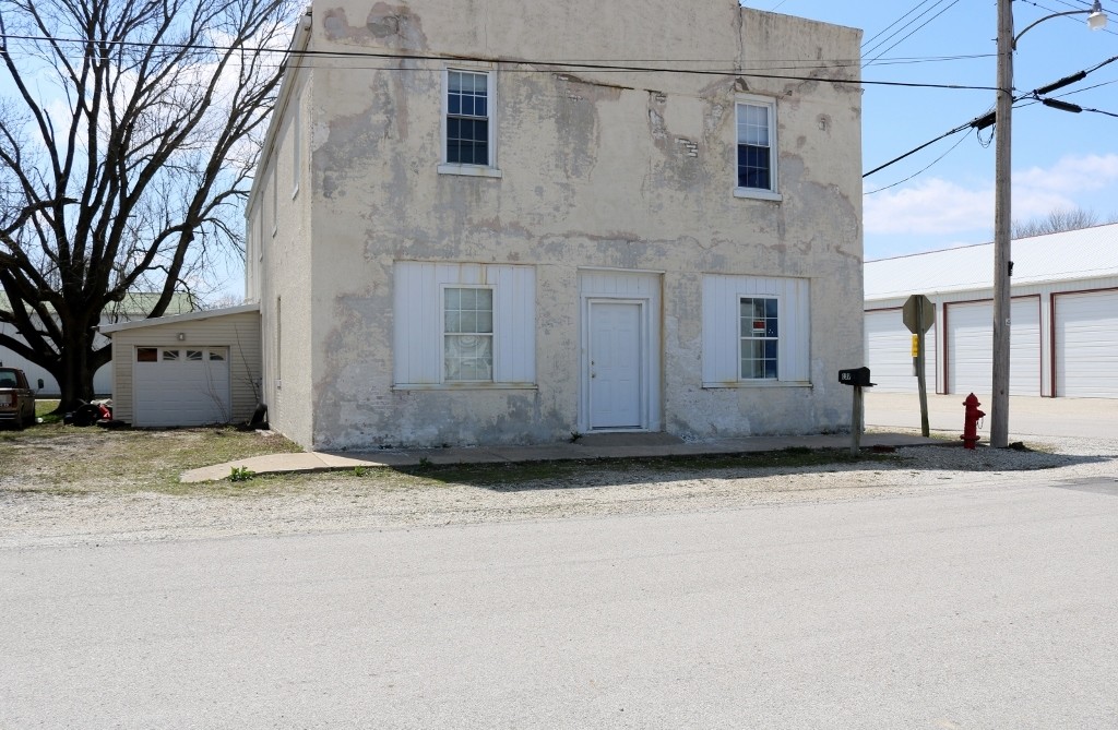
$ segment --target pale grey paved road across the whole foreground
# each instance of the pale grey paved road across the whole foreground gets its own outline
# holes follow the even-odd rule
[[[0,622],[4,729],[1112,729],[1118,482],[7,550]]]

